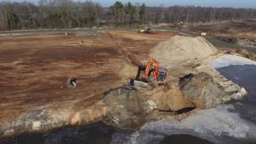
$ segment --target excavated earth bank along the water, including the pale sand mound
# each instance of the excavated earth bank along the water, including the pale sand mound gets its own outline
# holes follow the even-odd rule
[[[126,83],[106,91],[101,101],[75,111],[69,118],[61,116],[65,111],[35,111],[18,122],[6,123],[1,127],[1,136],[98,121],[120,129],[136,129],[152,120],[181,120],[198,110],[246,96],[246,90],[207,64],[210,58],[218,57],[218,50],[205,38],[175,36],[160,42],[150,51],[150,56],[168,69],[168,86],[153,90],[137,90],[128,86],[130,78],[137,73],[137,66],[131,62],[134,59],[130,59],[120,70],[120,77]]]

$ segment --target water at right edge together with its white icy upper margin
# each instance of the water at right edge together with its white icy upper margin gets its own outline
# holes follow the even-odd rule
[[[234,110],[247,122],[256,125],[256,62],[234,55],[223,55],[217,58],[212,65],[227,79],[244,87],[248,92],[246,98],[232,104]],[[254,143],[256,143],[254,141]]]

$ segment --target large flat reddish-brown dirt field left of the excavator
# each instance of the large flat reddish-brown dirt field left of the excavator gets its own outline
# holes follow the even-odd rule
[[[158,42],[173,36],[102,31],[94,36],[1,37],[0,123],[41,106],[72,106],[74,111],[90,106],[104,91],[124,83],[118,74],[126,60],[122,51],[146,58]],[[78,78],[76,88],[66,87],[70,77]]]

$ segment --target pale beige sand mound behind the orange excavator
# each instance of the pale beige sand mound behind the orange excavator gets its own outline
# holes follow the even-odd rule
[[[150,56],[158,60],[161,66],[172,66],[181,62],[202,61],[216,53],[217,49],[205,38],[175,36],[166,42],[160,42]]]

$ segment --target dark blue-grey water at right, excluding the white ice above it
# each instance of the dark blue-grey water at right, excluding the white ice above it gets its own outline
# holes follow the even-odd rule
[[[227,79],[242,86],[248,92],[246,98],[233,104],[235,110],[247,121],[256,123],[256,66],[255,65],[231,65],[218,69]]]

